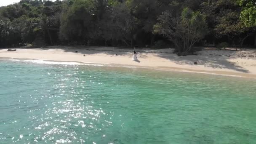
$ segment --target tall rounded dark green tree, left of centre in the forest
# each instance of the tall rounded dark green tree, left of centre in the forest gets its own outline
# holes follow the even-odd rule
[[[72,6],[68,6],[67,11],[61,15],[60,39],[62,41],[82,42],[90,39],[94,24],[93,13],[91,13],[91,3],[88,0],[76,0]],[[94,38],[94,37],[92,37]]]

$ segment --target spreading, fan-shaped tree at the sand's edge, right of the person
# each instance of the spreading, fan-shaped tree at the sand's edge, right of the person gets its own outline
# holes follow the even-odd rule
[[[184,8],[179,17],[174,17],[170,11],[160,15],[154,32],[167,37],[176,45],[176,51],[185,55],[196,42],[204,38],[208,28],[200,12]]]

